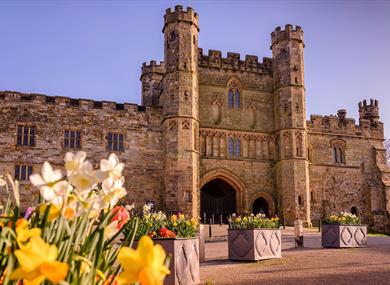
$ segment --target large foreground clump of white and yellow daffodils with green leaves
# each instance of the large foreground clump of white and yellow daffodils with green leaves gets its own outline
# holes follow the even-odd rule
[[[166,254],[148,236],[132,242],[138,217],[118,202],[126,195],[115,154],[93,169],[86,153],[67,153],[66,174],[45,162],[30,176],[39,201],[21,215],[19,183],[0,174],[0,284],[163,284]],[[124,226],[126,225],[126,226]],[[117,237],[127,230],[125,240]]]

